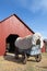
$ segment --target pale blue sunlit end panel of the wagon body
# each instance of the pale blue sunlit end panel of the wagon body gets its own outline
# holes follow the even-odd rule
[[[42,54],[39,45],[33,46],[30,50],[27,50],[27,54],[31,56],[36,56]]]

